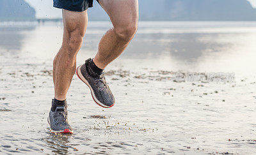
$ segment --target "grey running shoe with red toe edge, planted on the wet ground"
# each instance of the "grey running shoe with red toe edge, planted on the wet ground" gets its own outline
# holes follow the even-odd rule
[[[51,126],[51,133],[73,133],[68,124],[68,113],[65,106],[57,106],[54,111],[51,109],[47,121]]]

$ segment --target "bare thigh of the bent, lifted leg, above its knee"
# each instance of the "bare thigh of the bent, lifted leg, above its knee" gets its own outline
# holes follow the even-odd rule
[[[138,24],[138,0],[99,0],[108,13],[113,26],[127,26],[131,22]]]

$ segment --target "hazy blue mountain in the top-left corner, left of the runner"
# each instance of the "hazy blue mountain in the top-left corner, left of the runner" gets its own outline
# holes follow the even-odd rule
[[[0,0],[0,20],[34,20],[35,13],[24,0]]]

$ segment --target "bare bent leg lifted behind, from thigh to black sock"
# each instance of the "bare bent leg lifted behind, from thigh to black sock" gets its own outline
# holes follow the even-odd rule
[[[115,60],[132,40],[138,27],[138,0],[100,0],[113,28],[104,34],[93,62],[101,69]]]

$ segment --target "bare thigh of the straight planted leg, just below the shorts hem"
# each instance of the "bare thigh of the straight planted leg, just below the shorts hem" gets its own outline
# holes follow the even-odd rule
[[[62,14],[65,33],[77,33],[84,36],[88,25],[87,11],[63,10]]]

